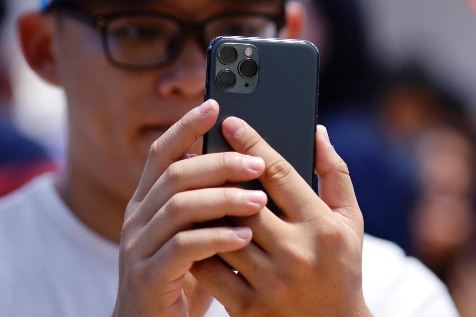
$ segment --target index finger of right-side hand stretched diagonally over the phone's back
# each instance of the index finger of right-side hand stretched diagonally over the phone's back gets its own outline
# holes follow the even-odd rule
[[[263,158],[266,167],[259,181],[288,218],[315,218],[316,209],[329,211],[291,164],[245,121],[229,117],[223,122],[222,130],[235,151]]]

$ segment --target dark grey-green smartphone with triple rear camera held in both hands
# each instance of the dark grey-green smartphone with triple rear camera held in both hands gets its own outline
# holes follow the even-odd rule
[[[215,38],[208,47],[205,100],[220,106],[204,136],[203,154],[233,151],[221,125],[236,116],[251,125],[314,186],[319,53],[311,42],[276,38]],[[240,183],[265,190],[258,180]],[[265,191],[266,192],[266,191]],[[268,208],[281,211],[268,197]]]

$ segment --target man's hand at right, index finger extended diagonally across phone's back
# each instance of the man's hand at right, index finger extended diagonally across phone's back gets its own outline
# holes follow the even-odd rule
[[[347,165],[317,126],[316,173],[319,196],[278,153],[238,118],[223,123],[235,151],[260,156],[259,178],[283,211],[267,208],[232,218],[253,230],[253,242],[195,263],[191,272],[230,316],[371,316],[362,294],[363,218]]]

